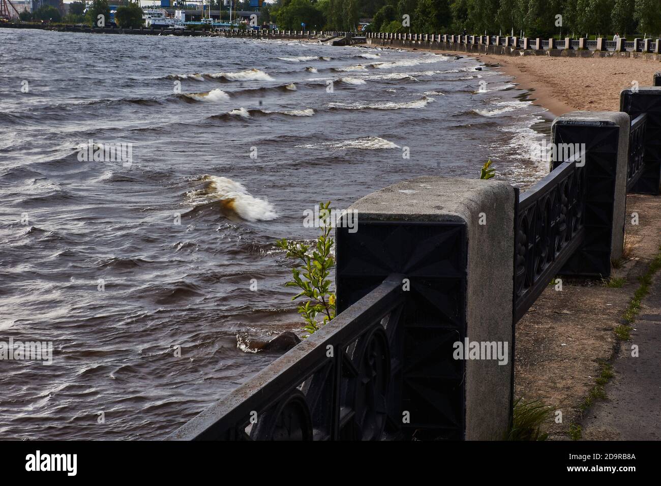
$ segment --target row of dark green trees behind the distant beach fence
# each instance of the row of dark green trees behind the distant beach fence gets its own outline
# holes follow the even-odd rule
[[[661,0],[278,0],[262,20],[288,30],[661,37]]]

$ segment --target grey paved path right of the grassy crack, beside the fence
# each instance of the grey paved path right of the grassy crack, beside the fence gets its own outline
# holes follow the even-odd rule
[[[661,272],[615,359],[615,376],[582,423],[585,440],[661,440]],[[638,346],[638,357],[631,356]]]

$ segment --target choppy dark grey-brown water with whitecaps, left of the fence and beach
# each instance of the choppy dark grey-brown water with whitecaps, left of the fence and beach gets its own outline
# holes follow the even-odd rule
[[[544,171],[545,115],[471,58],[12,29],[0,46],[0,341],[55,347],[0,361],[3,439],[163,438],[245,382],[276,355],[237,334],[299,327],[273,243],[314,237],[319,200],[488,157],[513,183]],[[89,140],[132,144],[132,164],[81,161]]]

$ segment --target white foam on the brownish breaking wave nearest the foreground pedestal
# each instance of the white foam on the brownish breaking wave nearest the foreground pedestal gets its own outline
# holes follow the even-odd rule
[[[204,183],[204,188],[188,192],[187,204],[201,206],[219,202],[223,208],[233,211],[247,221],[270,221],[278,218],[278,213],[270,202],[254,197],[243,184],[232,181],[229,177],[204,175],[198,181]]]

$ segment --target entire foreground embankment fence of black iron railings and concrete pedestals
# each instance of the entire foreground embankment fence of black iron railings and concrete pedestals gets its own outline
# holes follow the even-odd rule
[[[620,109],[556,118],[549,175],[524,192],[418,177],[358,200],[360,230],[336,228],[335,319],[169,438],[504,438],[517,321],[557,275],[608,278],[627,192],[660,193],[661,87]]]

